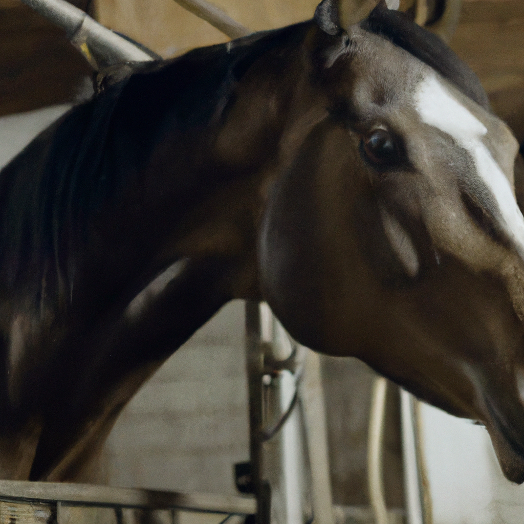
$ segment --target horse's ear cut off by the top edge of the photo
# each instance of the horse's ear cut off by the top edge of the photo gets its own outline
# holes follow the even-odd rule
[[[384,1],[384,0],[382,0]],[[328,35],[360,23],[381,0],[322,0],[316,7],[315,21]]]

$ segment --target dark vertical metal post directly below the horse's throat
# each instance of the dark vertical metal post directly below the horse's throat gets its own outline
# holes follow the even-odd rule
[[[261,477],[262,460],[262,375],[264,356],[260,347],[258,302],[246,300],[246,368],[249,393],[250,476],[257,499],[257,524],[270,524],[271,493]]]

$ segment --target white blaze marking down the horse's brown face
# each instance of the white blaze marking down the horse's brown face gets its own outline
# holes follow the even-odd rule
[[[486,126],[460,104],[435,75],[430,75],[419,84],[415,104],[423,122],[452,136],[457,144],[470,153],[477,174],[497,200],[506,222],[506,231],[513,237],[520,254],[524,254],[524,217],[509,180],[482,141],[482,137],[487,134]]]

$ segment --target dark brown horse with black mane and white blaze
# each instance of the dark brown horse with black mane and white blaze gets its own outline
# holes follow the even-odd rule
[[[517,141],[466,64],[375,4],[108,72],[0,172],[0,476],[74,480],[243,298],[484,423],[524,481]]]

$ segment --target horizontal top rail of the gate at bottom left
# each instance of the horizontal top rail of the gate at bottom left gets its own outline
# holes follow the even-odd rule
[[[179,508],[235,515],[252,515],[256,512],[256,501],[253,497],[162,492],[58,482],[0,481],[0,499],[144,509]]]

